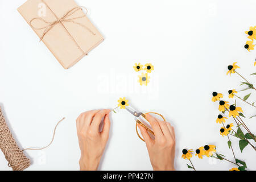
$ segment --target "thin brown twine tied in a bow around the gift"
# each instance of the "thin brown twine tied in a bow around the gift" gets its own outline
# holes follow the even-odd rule
[[[49,10],[51,10],[51,8],[47,5],[46,2],[44,2],[44,0],[42,0],[42,2],[48,7]],[[78,17],[76,17],[76,18],[68,19],[69,16],[73,15],[74,13],[76,13],[77,11],[82,10],[82,9],[85,9],[85,10],[86,10],[85,15],[83,15],[83,16],[78,16]],[[51,10],[51,11],[52,11],[52,10]],[[74,22],[74,21],[73,21],[74,19],[79,19],[79,18],[85,17],[86,14],[88,13],[88,10],[87,10],[85,7],[83,7],[83,6],[78,6],[78,7],[75,7],[75,8],[73,8],[73,9],[69,10],[62,18],[58,18],[57,15],[56,15],[53,11],[52,11],[52,13],[53,13],[53,15],[55,15],[55,17],[56,17],[56,19],[57,19],[56,21],[47,22],[47,21],[44,20],[43,18],[33,18],[33,19],[30,20],[30,26],[31,26],[32,28],[35,28],[36,30],[42,30],[42,29],[46,28],[46,30],[44,30],[44,32],[43,32],[43,35],[40,37],[40,41],[43,40],[44,36],[45,36],[54,26],[56,26],[56,24],[60,23],[60,24],[64,27],[64,29],[68,32],[69,36],[71,36],[71,38],[73,39],[73,41],[76,43],[77,47],[79,47],[79,49],[85,54],[84,50],[82,50],[82,48],[79,46],[79,44],[78,44],[78,43],[76,42],[76,40],[73,38],[73,36],[69,33],[69,31],[67,30],[67,28],[65,28],[63,22],[71,22],[71,23],[78,24],[78,25],[80,25],[81,27],[84,27],[86,30],[88,30],[91,34],[96,35],[92,30],[90,30],[90,28],[86,27],[84,24],[81,24],[81,23],[78,23],[78,22]],[[32,22],[33,22],[34,20],[36,20],[36,19],[42,20],[44,23],[47,23],[48,26],[44,26],[44,27],[35,27],[35,26],[33,26],[33,25],[32,25]]]

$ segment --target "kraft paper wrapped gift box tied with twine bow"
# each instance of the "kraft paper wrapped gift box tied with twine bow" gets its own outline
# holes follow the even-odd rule
[[[65,69],[104,40],[73,0],[28,0],[18,11]]]

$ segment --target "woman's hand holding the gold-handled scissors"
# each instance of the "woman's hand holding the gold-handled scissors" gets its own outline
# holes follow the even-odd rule
[[[139,126],[141,134],[146,142],[152,167],[155,171],[172,171],[175,158],[175,131],[170,123],[160,121],[146,114],[146,118],[155,133],[155,140],[151,139],[147,130]]]

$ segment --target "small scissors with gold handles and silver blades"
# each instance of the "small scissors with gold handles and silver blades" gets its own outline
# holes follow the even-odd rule
[[[136,121],[136,133],[138,135],[138,137],[145,142],[145,140],[141,137],[141,135],[139,135],[138,132],[138,125],[143,126],[151,135],[155,136],[154,131],[152,130],[152,127],[150,126],[150,122],[148,121],[148,119],[146,118],[145,114],[157,114],[159,115],[161,118],[163,118],[164,121],[166,121],[166,118],[163,117],[163,115],[159,114],[159,113],[154,113],[154,112],[150,112],[150,113],[142,113],[142,112],[138,112],[135,109],[133,109],[133,107],[131,106],[126,106],[125,109],[127,111],[129,111],[129,113],[133,114],[135,116],[134,120]]]

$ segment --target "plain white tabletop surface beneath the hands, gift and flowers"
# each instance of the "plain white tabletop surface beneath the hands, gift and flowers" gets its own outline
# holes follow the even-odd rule
[[[23,2],[0,0],[1,105],[22,148],[48,144],[56,122],[67,117],[51,147],[27,151],[33,161],[28,170],[79,169],[75,119],[85,110],[113,109],[119,97],[127,97],[138,110],[162,113],[175,126],[176,169],[187,170],[181,159],[184,147],[195,150],[216,144],[218,152],[233,159],[227,138],[219,134],[221,125],[215,122],[218,104],[211,98],[217,91],[228,99],[229,89],[242,88],[238,76],[226,76],[227,66],[234,61],[256,85],[255,76],[249,76],[256,68],[255,51],[243,48],[244,31],[255,25],[255,1],[77,0],[88,8],[90,20],[106,39],[69,70],[39,43],[16,11]],[[133,64],[137,62],[155,66],[146,92],[136,82]],[[241,96],[246,93],[249,91]],[[255,92],[249,98],[254,100]],[[246,117],[255,114],[252,107],[239,100],[237,104]],[[255,133],[255,118],[246,123]],[[251,147],[241,154],[238,142],[233,143],[237,158],[256,169]],[[234,167],[208,158],[193,157],[192,161],[199,170]],[[0,170],[10,170],[2,153],[0,164]],[[151,170],[133,117],[124,110],[112,114],[110,140],[100,169]]]

